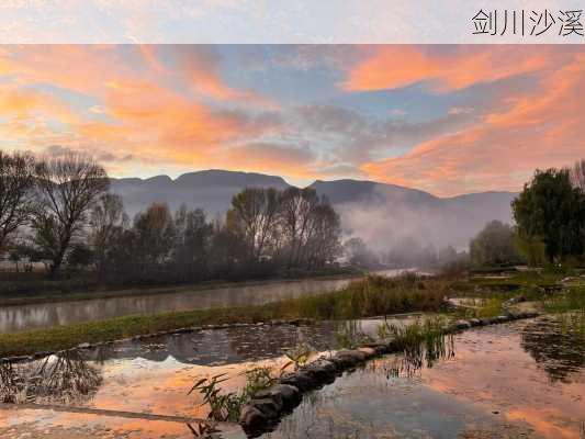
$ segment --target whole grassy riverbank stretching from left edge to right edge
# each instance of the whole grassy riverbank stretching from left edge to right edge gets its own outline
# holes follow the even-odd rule
[[[567,312],[585,307],[585,288],[567,283],[566,290],[550,291],[540,286],[540,278],[520,274],[494,280],[420,278],[406,274],[398,278],[368,277],[347,288],[316,295],[273,302],[265,305],[213,307],[154,315],[124,317],[59,326],[50,329],[0,335],[0,357],[30,356],[54,352],[81,344],[100,344],[203,325],[254,324],[274,319],[352,319],[406,312],[441,312],[459,317],[487,317],[502,312],[505,300],[521,299],[550,311]],[[566,279],[566,278],[564,278]],[[556,282],[560,282],[558,277]],[[547,284],[550,277],[547,277]],[[479,286],[481,284],[481,286]],[[514,284],[514,288],[509,285]],[[503,286],[506,285],[506,286]],[[562,283],[560,284],[562,286]],[[551,292],[553,291],[553,292]],[[552,294],[552,295],[551,295]],[[496,299],[477,309],[452,309],[446,296]],[[552,304],[555,309],[552,309]],[[582,325],[583,323],[581,323]]]

